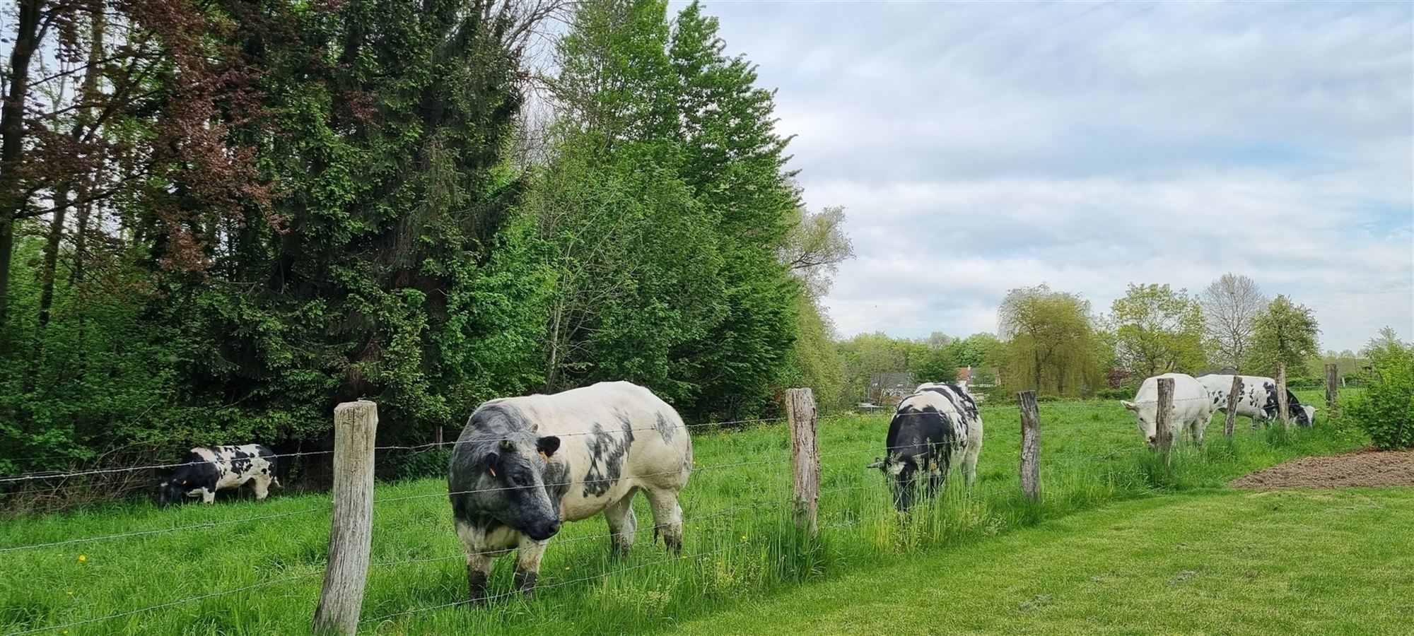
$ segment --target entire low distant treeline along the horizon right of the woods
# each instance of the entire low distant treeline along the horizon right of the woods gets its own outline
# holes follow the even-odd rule
[[[1352,352],[1321,353],[1309,308],[1287,295],[1268,298],[1249,277],[1225,274],[1200,294],[1168,284],[1131,284],[1107,312],[1080,294],[1046,284],[1007,293],[997,335],[926,339],[861,334],[839,346],[846,401],[864,400],[881,373],[916,382],[952,380],[959,367],[988,390],[1046,396],[1133,394],[1145,377],[1168,372],[1239,372],[1273,376],[1285,365],[1291,386],[1318,386],[1325,362],[1355,373]],[[995,377],[993,375],[995,373]]]

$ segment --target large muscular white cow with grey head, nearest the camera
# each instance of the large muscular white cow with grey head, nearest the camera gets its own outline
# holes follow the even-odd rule
[[[492,558],[516,550],[515,587],[534,591],[546,541],[564,522],[604,513],[611,553],[633,544],[633,495],[648,497],[653,538],[683,550],[677,493],[693,442],[673,407],[645,387],[601,382],[551,396],[491,400],[452,448],[448,488],[467,551],[468,599],[486,599]]]

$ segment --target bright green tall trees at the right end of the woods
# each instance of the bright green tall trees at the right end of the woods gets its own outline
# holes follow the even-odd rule
[[[771,92],[717,28],[697,4],[669,23],[665,1],[605,0],[559,44],[566,112],[533,204],[556,273],[551,389],[626,379],[690,417],[745,417],[812,358],[793,342],[817,325],[781,260],[810,219]]]

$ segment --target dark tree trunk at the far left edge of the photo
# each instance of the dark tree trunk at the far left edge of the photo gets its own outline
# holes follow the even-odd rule
[[[14,222],[24,201],[16,167],[24,155],[24,103],[30,98],[30,59],[38,48],[41,0],[20,0],[14,48],[10,49],[10,92],[0,106],[0,325],[10,307],[10,259],[14,256]]]

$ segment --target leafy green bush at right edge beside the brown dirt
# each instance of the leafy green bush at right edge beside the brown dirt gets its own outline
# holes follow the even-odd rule
[[[1414,448],[1414,342],[1401,342],[1386,326],[1362,351],[1370,360],[1362,372],[1365,389],[1342,404],[1376,447]]]

